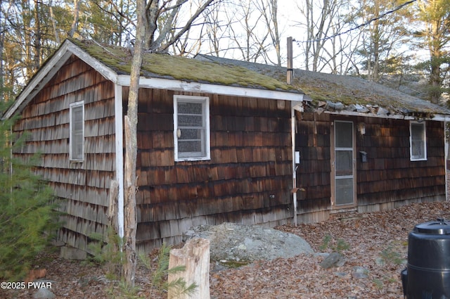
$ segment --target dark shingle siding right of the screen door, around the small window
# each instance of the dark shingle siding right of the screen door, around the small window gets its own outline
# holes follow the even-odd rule
[[[444,123],[426,121],[427,160],[411,161],[409,120],[359,117],[366,133],[356,133],[359,211],[396,208],[418,201],[445,200]]]

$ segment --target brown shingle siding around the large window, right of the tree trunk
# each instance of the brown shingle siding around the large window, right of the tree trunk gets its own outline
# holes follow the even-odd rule
[[[290,103],[186,95],[210,97],[211,160],[175,163],[174,91],[140,90],[139,249],[179,242],[184,231],[198,224],[288,222]]]

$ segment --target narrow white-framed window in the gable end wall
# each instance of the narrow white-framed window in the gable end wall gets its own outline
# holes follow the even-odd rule
[[[84,101],[70,104],[69,158],[82,161],[84,156]]]

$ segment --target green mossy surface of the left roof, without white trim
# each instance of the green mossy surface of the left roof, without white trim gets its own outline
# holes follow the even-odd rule
[[[129,50],[118,46],[105,46],[95,42],[81,42],[74,39],[71,39],[71,42],[117,72],[130,73],[131,53]],[[295,87],[284,84],[273,77],[248,70],[248,68],[197,61],[160,53],[144,53],[141,75],[269,90],[296,90]]]

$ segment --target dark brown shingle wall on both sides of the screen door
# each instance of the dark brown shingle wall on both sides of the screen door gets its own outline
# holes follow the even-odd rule
[[[356,193],[359,212],[396,208],[414,202],[445,201],[444,123],[426,121],[427,160],[411,161],[409,120],[297,113],[297,214],[302,220],[326,220],[330,205],[330,130],[334,120],[354,122]],[[358,132],[364,123],[365,134]],[[361,163],[359,151],[367,153]]]

